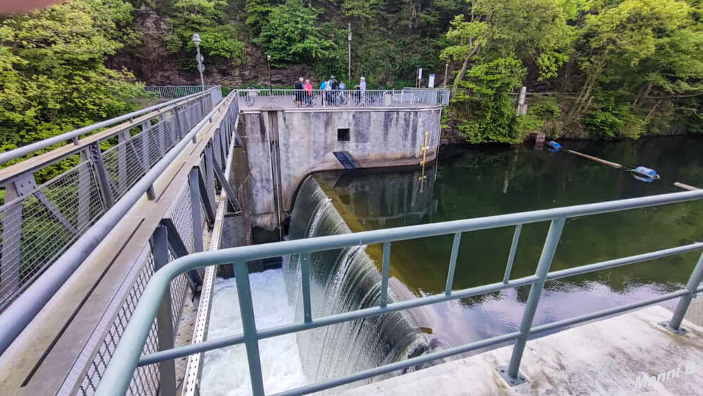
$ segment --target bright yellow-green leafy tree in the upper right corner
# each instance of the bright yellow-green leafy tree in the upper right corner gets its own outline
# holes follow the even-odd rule
[[[634,98],[633,106],[652,89],[669,94],[702,91],[695,81],[703,77],[703,37],[700,28],[693,27],[692,11],[678,0],[625,0],[587,15],[578,44],[585,79],[570,114],[572,122],[598,100],[599,82],[613,87],[600,90],[601,102],[621,96],[617,91],[623,87],[639,91],[625,95]],[[618,113],[627,112],[619,108]]]

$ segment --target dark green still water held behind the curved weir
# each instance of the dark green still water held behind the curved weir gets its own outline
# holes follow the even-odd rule
[[[703,186],[703,139],[674,137],[624,142],[567,142],[566,148],[659,172],[651,184],[568,153],[531,146],[447,148],[425,170],[365,170],[316,179],[353,231],[523,212],[683,191],[674,181]],[[551,269],[565,269],[701,241],[703,202],[570,219]],[[524,226],[512,278],[534,273],[548,223]],[[501,281],[514,229],[465,233],[454,288]],[[391,282],[400,298],[441,293],[451,236],[393,243]],[[367,252],[380,267],[380,247]],[[673,290],[685,283],[697,254],[633,264],[548,282],[534,324],[574,317]],[[528,288],[415,309],[413,317],[445,345],[515,331]]]

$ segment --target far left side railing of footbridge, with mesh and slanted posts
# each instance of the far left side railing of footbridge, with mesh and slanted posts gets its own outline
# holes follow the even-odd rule
[[[20,162],[3,170],[0,311],[174,147],[212,108],[211,100],[205,92],[169,102],[140,122],[45,153],[32,166]],[[101,149],[115,138],[115,146]],[[36,172],[71,155],[79,155],[79,165],[37,186]]]

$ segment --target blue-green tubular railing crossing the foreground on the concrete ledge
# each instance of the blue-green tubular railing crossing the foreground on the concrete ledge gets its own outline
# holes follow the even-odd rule
[[[375,231],[364,231],[355,234],[343,234],[335,236],[323,236],[320,238],[308,238],[296,241],[284,241],[279,243],[269,243],[264,245],[243,246],[240,248],[231,248],[225,250],[217,250],[207,253],[195,253],[186,257],[181,257],[174,262],[167,264],[160,269],[153,278],[149,281],[148,286],[144,290],[141,300],[136,307],[134,315],[131,317],[127,330],[124,332],[120,344],[117,345],[115,354],[110,360],[107,371],[102,378],[98,387],[98,395],[123,395],[126,392],[131,380],[131,376],[137,366],[154,364],[168,359],[176,359],[191,355],[194,353],[214,350],[229,345],[245,344],[247,351],[247,359],[249,364],[249,372],[252,381],[252,391],[254,395],[264,395],[264,385],[262,378],[261,362],[259,361],[259,340],[282,336],[283,334],[305,331],[311,328],[321,326],[329,326],[345,321],[373,317],[380,314],[387,314],[404,309],[420,307],[423,305],[435,304],[447,300],[456,300],[460,298],[472,297],[486,293],[493,293],[498,290],[507,288],[517,288],[520,286],[531,285],[527,304],[524,307],[522,321],[520,322],[519,331],[515,331],[501,336],[496,336],[486,340],[479,340],[466,345],[452,347],[447,350],[432,352],[420,357],[413,357],[401,362],[394,362],[384,366],[375,367],[354,373],[341,378],[334,378],[322,383],[305,385],[293,390],[280,392],[277,395],[305,395],[319,390],[333,388],[338,385],[344,385],[359,381],[361,379],[378,376],[384,373],[390,373],[405,369],[417,364],[431,362],[437,359],[458,355],[464,352],[477,350],[482,347],[498,345],[507,341],[515,341],[512,358],[508,366],[499,367],[498,371],[511,385],[517,385],[524,382],[524,376],[520,373],[520,360],[522,352],[529,336],[544,333],[547,331],[555,331],[565,328],[573,324],[579,324],[584,321],[590,321],[602,317],[607,317],[621,312],[627,312],[632,309],[638,309],[647,305],[657,304],[665,300],[673,298],[681,298],[676,308],[675,314],[671,321],[662,324],[672,331],[681,331],[681,321],[688,309],[688,305],[692,297],[703,290],[700,282],[703,277],[703,255],[697,262],[693,270],[688,284],[681,290],[676,290],[671,293],[659,295],[654,298],[634,302],[628,305],[622,305],[610,309],[605,309],[599,312],[585,314],[579,317],[555,321],[550,324],[541,326],[532,326],[534,314],[542,294],[544,283],[555,279],[562,279],[567,276],[576,276],[587,274],[590,272],[599,271],[602,269],[611,269],[621,267],[636,262],[645,262],[661,257],[678,255],[681,253],[689,253],[693,251],[703,250],[703,243],[696,242],[688,245],[678,246],[665,250],[657,250],[650,253],[634,255],[630,257],[619,258],[616,260],[608,260],[589,264],[581,267],[563,269],[560,271],[549,272],[552,259],[554,257],[557,245],[560,241],[562,229],[565,222],[569,218],[582,217],[588,215],[597,215],[606,212],[618,212],[622,210],[632,210],[641,207],[650,207],[656,205],[665,205],[671,203],[681,203],[690,200],[699,200],[703,198],[703,191],[688,191],[683,193],[671,193],[659,196],[649,196],[643,198],[633,198],[626,200],[616,200],[603,203],[593,203],[588,205],[577,205],[572,207],[561,207],[550,210],[537,210],[533,212],[514,213],[510,215],[499,215],[491,217],[481,217],[476,219],[465,219],[453,222],[442,222],[434,224],[423,224],[417,226],[405,226],[395,229],[383,229]],[[510,279],[512,271],[512,251],[516,248],[520,239],[520,229],[523,224],[536,222],[550,222],[549,231],[546,241],[543,245],[541,257],[539,258],[536,272],[530,276],[524,276],[518,279]],[[453,290],[453,274],[456,268],[456,258],[460,243],[460,236],[464,232],[478,231],[483,229],[495,229],[504,226],[515,226],[516,232],[513,238],[511,254],[506,265],[506,273],[503,281],[491,283],[483,286],[476,286],[462,290]],[[444,293],[430,295],[415,300],[406,300],[387,304],[385,296],[387,295],[387,284],[389,276],[389,253],[392,242],[404,241],[416,238],[426,238],[430,236],[454,234],[454,242],[451,257],[449,260],[449,274],[447,276],[446,290]],[[322,250],[331,250],[339,248],[347,248],[357,245],[368,245],[373,243],[382,243],[384,246],[384,254],[382,260],[382,298],[378,307],[359,309],[352,312],[344,312],[334,314],[328,317],[312,317],[310,303],[310,267],[309,253]],[[303,307],[304,320],[299,323],[287,324],[272,328],[257,328],[254,321],[254,310],[252,307],[252,295],[249,284],[249,273],[247,269],[247,261],[259,260],[266,257],[274,257],[280,255],[301,255],[301,274],[302,274],[302,291],[303,291]],[[233,263],[235,268],[237,293],[239,297],[239,305],[243,319],[243,333],[207,340],[202,343],[196,343],[184,347],[176,347],[169,350],[162,350],[151,355],[141,356],[141,351],[145,340],[148,336],[150,327],[154,317],[157,314],[157,309],[160,305],[162,296],[168,290],[169,282],[176,276],[188,272],[191,269],[205,267],[214,264]]]

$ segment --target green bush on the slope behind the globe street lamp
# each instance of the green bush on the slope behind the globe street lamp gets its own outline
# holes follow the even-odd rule
[[[193,33],[198,32],[203,56],[214,57],[233,64],[244,60],[244,43],[238,39],[236,25],[226,18],[224,0],[178,0],[174,4],[171,23],[173,32],[165,37],[169,51],[195,54]],[[188,65],[194,65],[188,62]]]

